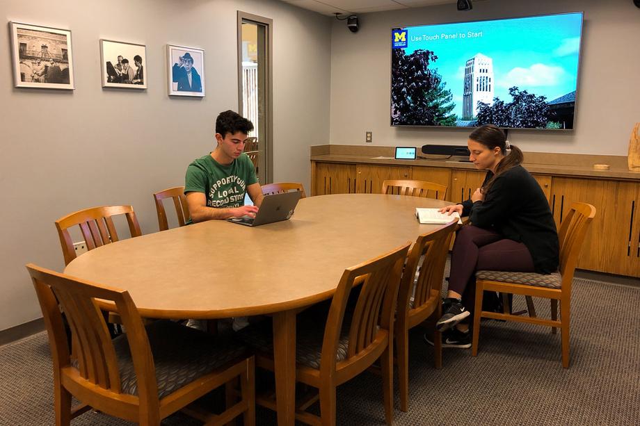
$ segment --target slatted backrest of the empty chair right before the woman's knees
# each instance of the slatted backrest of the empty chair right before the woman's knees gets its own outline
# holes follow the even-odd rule
[[[458,229],[457,220],[440,225],[433,231],[419,236],[411,247],[400,281],[399,316],[406,316],[408,313],[412,295],[411,309],[420,309],[432,297],[433,292],[438,293],[438,303],[440,302],[439,295],[445,275],[445,263],[447,263],[451,238],[456,229]],[[421,259],[422,264],[420,264]],[[420,271],[416,280],[415,272],[418,266]]]

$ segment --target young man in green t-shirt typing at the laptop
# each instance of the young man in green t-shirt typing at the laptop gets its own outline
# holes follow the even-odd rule
[[[262,203],[262,189],[250,158],[243,154],[253,124],[232,110],[216,118],[218,146],[197,158],[186,169],[184,193],[191,222],[211,219],[255,218]],[[248,193],[255,206],[245,206]]]

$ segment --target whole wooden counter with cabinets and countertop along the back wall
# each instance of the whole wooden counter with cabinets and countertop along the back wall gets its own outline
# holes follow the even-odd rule
[[[418,179],[447,186],[447,201],[458,203],[486,174],[461,157],[410,161],[393,153],[394,147],[311,147],[312,195],[377,193],[385,179]],[[593,169],[602,163],[610,170]],[[558,227],[570,203],[595,206],[578,268],[640,277],[640,172],[627,169],[626,156],[525,152],[523,165],[540,183]]]

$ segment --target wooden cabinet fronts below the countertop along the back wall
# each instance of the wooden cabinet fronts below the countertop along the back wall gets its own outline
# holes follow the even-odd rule
[[[448,167],[341,164],[312,161],[312,194],[379,193],[385,179],[418,179],[448,186],[447,200],[469,199],[485,171]],[[637,181],[534,174],[558,227],[572,202],[593,204],[578,268],[640,277],[640,184]]]

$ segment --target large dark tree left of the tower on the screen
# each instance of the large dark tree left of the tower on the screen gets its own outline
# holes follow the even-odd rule
[[[438,56],[417,50],[406,55],[394,49],[391,75],[392,124],[454,126],[456,115],[451,91],[436,69],[429,69]]]

